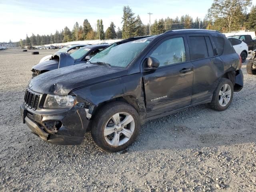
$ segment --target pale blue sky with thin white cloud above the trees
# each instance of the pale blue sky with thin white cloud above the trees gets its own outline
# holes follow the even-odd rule
[[[72,30],[75,22],[82,25],[88,19],[96,28],[102,19],[104,31],[114,22],[122,28],[123,6],[132,8],[144,24],[155,19],[175,18],[188,14],[203,19],[213,0],[0,0],[0,42],[19,41],[32,33],[47,35],[65,26]],[[252,0],[255,5],[256,0]]]

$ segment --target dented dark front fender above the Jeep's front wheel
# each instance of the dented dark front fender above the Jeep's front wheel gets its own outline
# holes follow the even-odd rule
[[[136,104],[138,105],[138,110],[142,119],[144,115],[146,115],[143,81],[140,73],[92,84],[74,90],[70,94],[75,94],[78,98],[78,102],[84,102],[85,105],[96,107],[103,102],[111,101],[116,98],[132,96],[133,98],[136,98]]]

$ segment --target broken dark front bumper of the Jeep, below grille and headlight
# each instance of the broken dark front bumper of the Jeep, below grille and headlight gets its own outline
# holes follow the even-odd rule
[[[42,140],[59,145],[78,145],[88,130],[89,120],[84,108],[73,107],[70,110],[32,110],[26,105],[20,106],[22,122],[26,123],[30,132]],[[61,122],[61,126],[49,128],[52,122]]]

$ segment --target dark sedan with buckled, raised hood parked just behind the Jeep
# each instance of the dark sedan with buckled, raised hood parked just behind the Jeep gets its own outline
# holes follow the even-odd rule
[[[92,56],[106,48],[108,45],[89,45],[78,49],[72,54],[57,52],[48,61],[41,62],[31,69],[32,77],[35,77],[50,70],[86,62]],[[87,56],[87,57],[86,57]]]

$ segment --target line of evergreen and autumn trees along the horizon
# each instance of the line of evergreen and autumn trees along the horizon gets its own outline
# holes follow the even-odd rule
[[[164,33],[168,30],[175,29],[212,29],[220,32],[231,32],[242,29],[256,30],[256,6],[252,6],[247,13],[248,6],[251,6],[252,0],[214,0],[212,6],[208,9],[207,15],[201,20],[193,20],[188,14],[176,18],[161,18],[154,20],[153,23],[143,24],[140,16],[135,13],[129,6],[123,7],[122,29],[113,22],[106,30],[102,24],[102,19],[97,20],[96,29],[94,30],[87,19],[82,25],[78,22],[74,24],[72,30],[67,26],[63,30],[56,30],[55,34],[39,34],[20,39],[20,46],[26,45],[44,45],[78,40],[104,40],[120,39],[132,36],[146,36]]]

